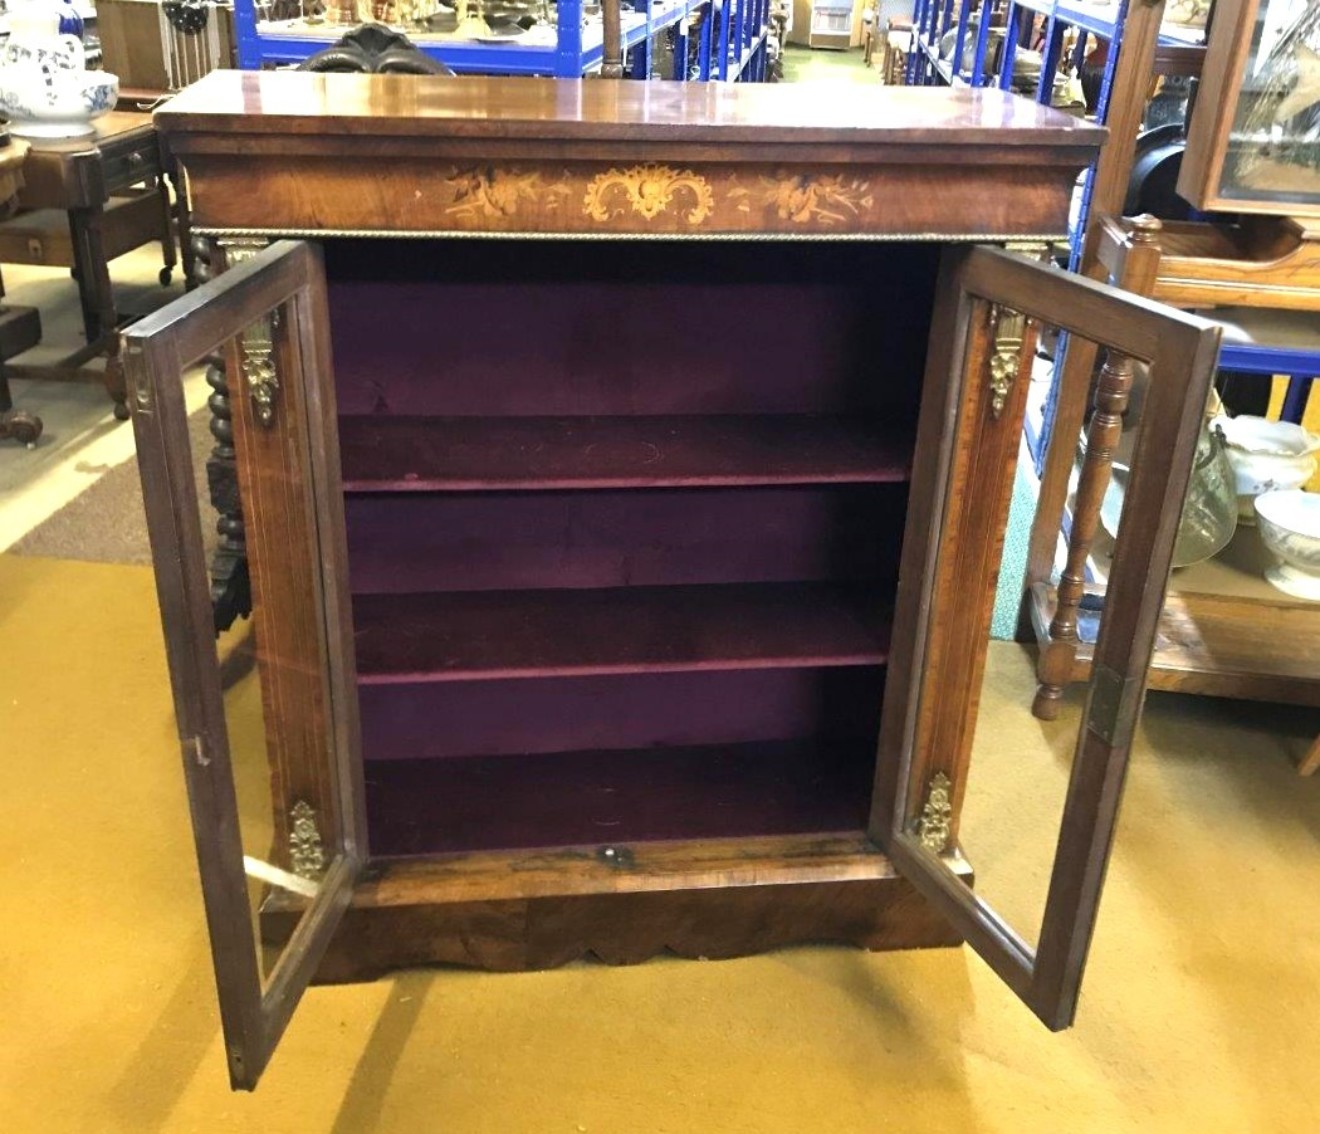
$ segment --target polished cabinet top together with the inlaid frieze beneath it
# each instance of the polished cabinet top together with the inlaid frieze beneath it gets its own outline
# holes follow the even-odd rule
[[[157,114],[202,230],[1067,230],[1104,131],[998,90],[213,73]]]

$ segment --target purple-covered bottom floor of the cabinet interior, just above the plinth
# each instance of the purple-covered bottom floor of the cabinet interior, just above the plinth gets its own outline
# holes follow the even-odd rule
[[[861,832],[873,749],[801,739],[368,759],[372,855]]]

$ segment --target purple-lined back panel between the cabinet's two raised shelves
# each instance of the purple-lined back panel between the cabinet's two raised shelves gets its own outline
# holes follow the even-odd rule
[[[892,590],[906,484],[348,496],[356,594],[869,581]]]

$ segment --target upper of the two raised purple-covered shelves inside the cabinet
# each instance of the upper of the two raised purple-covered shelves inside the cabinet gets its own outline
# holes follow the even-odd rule
[[[796,415],[343,417],[350,492],[906,481],[911,442],[866,418]]]

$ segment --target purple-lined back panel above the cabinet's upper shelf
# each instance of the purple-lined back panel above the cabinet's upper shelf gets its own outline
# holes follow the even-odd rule
[[[847,349],[859,302],[824,285],[343,284],[339,412],[843,413],[884,388],[862,385]],[[758,318],[657,335],[722,309]]]

